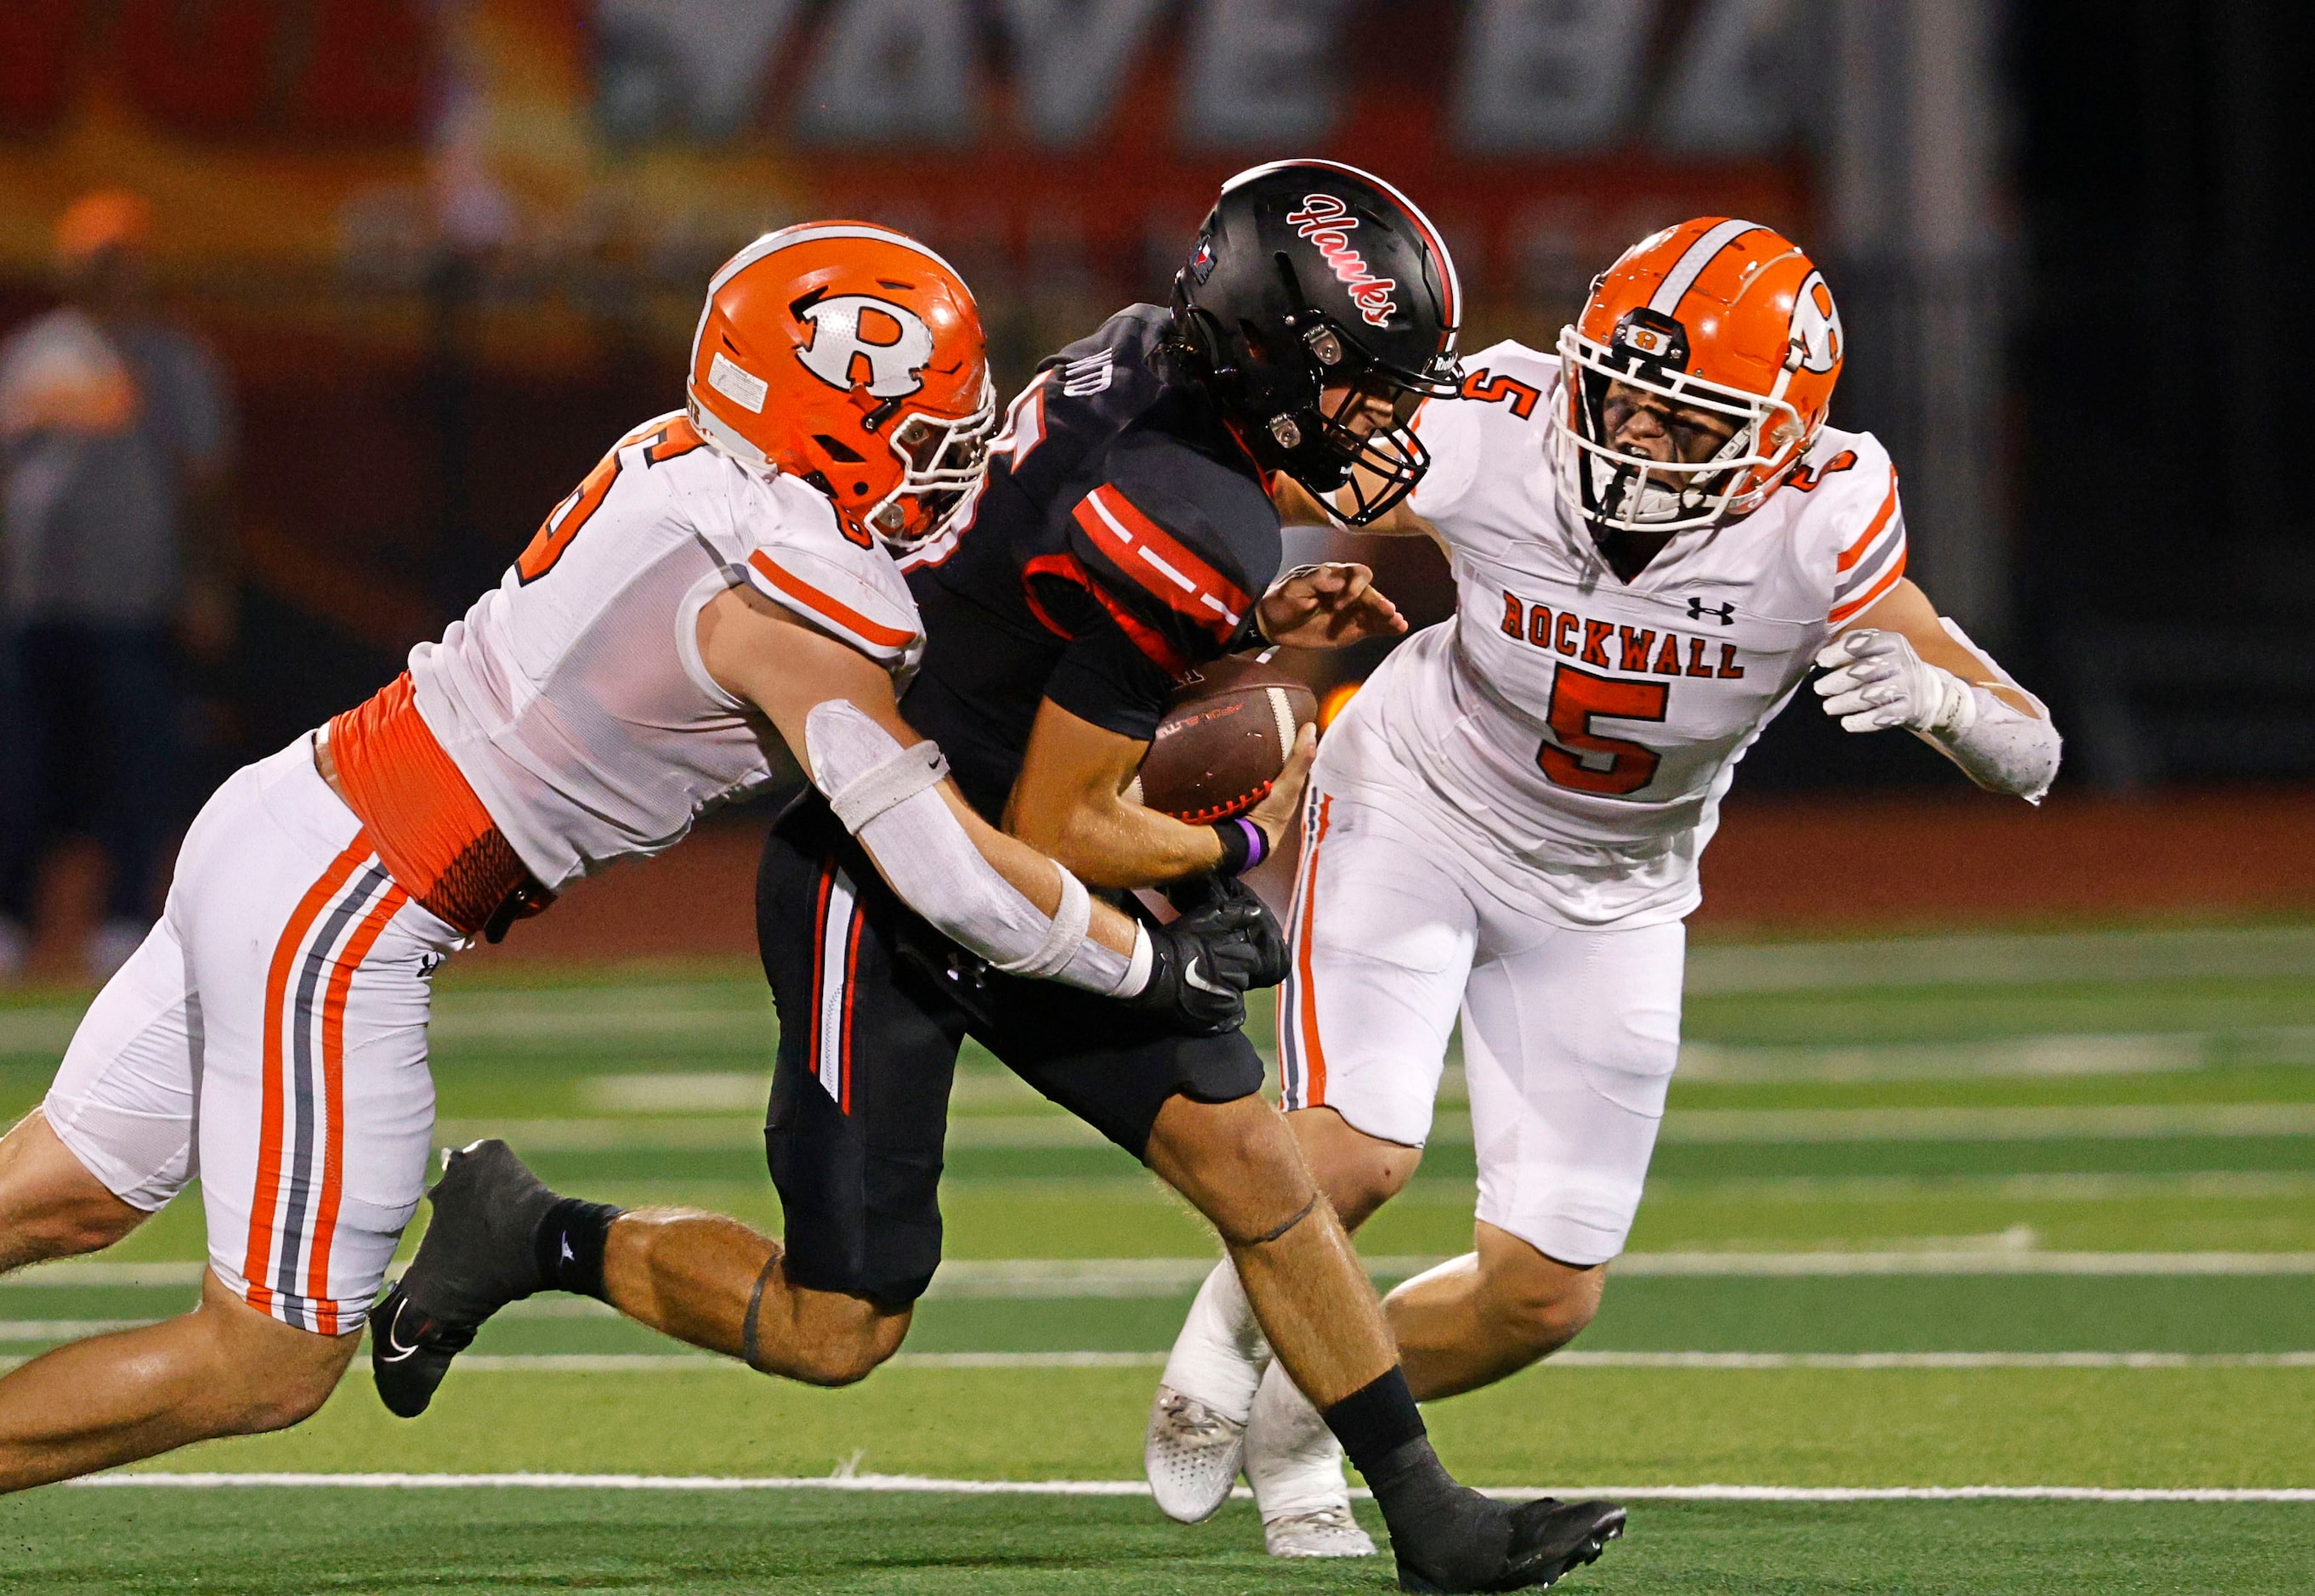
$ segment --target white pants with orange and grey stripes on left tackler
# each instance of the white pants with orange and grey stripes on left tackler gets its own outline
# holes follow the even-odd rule
[[[299,738],[201,807],[167,911],[72,1036],[49,1124],[132,1207],[199,1175],[218,1279],[350,1335],[426,1184],[428,976],[456,946]]]

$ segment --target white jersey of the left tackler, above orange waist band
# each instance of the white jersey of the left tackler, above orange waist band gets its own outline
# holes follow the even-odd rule
[[[419,717],[542,886],[660,854],[792,768],[699,659],[699,611],[738,583],[896,678],[924,652],[882,546],[847,539],[806,483],[715,453],[681,412],[620,439],[507,578],[410,650]]]

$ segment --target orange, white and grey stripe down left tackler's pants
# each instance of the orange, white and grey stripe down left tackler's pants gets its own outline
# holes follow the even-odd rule
[[[345,1002],[407,902],[361,833],[306,888],[266,969],[257,1189],[241,1277],[250,1307],[299,1330],[345,1335],[370,1307],[329,1291],[345,1175]]]

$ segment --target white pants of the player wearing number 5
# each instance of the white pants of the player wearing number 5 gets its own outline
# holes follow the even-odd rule
[[[1544,921],[1528,865],[1421,810],[1310,786],[1278,997],[1285,1106],[1421,1147],[1461,1013],[1479,1219],[1604,1263],[1632,1231],[1678,1062],[1688,932]]]

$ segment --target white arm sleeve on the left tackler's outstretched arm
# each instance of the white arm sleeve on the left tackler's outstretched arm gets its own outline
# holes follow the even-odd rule
[[[829,699],[803,717],[806,766],[836,817],[910,909],[1002,971],[1132,997],[1148,981],[1148,932],[1134,955],[1086,934],[1093,897],[1060,865],[1060,904],[1044,914],[965,835],[935,791],[949,763],[931,742],[901,747],[859,705]]]

